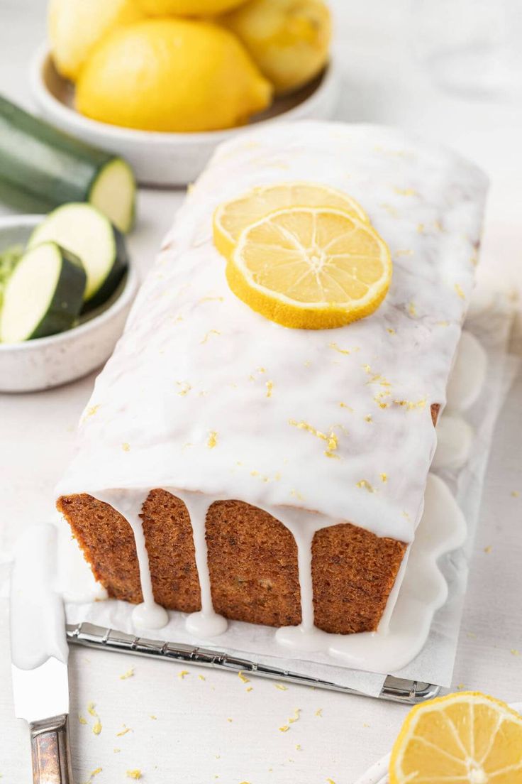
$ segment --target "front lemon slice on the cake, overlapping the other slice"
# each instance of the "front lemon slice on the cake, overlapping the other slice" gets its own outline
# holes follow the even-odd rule
[[[239,234],[226,277],[252,310],[285,327],[340,327],[386,296],[391,259],[369,223],[339,209],[272,212]]]

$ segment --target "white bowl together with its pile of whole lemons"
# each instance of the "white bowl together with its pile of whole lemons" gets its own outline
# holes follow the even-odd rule
[[[50,0],[31,64],[41,113],[184,185],[245,125],[328,118],[339,82],[324,0]]]

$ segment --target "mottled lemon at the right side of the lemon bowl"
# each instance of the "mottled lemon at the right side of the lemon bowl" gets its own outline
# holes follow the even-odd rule
[[[277,95],[309,82],[328,59],[331,20],[322,0],[250,0],[221,21],[243,41]]]

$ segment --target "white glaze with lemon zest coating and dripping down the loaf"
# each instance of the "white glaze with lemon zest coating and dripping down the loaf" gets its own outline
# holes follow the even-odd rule
[[[211,243],[212,212],[250,187],[282,180],[351,194],[390,245],[391,289],[371,318],[290,330],[229,291]],[[314,525],[350,520],[412,542],[435,448],[430,403],[445,402],[484,191],[484,176],[462,158],[392,129],[275,125],[219,148],[96,381],[59,485],[61,493],[103,500],[119,488],[120,506],[108,503],[134,521],[148,597],[142,611],[156,612],[139,523],[143,488],[176,488],[193,507],[203,608],[189,624],[204,634],[225,628],[211,608],[203,536],[215,499],[259,506],[296,538],[303,622],[279,632],[285,644],[313,647],[320,637],[309,568]],[[309,512],[318,513],[311,526]],[[151,628],[145,616],[140,622]],[[297,643],[288,643],[292,635]]]

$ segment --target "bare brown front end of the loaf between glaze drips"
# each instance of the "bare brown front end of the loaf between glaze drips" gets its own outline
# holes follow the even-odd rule
[[[124,517],[85,493],[62,496],[57,506],[110,597],[142,601],[134,535]],[[156,601],[182,612],[199,610],[185,504],[154,489],[141,517]],[[297,546],[283,523],[256,506],[229,500],[211,505],[206,527],[216,612],[267,626],[301,622]],[[316,532],[311,563],[315,625],[340,634],[376,630],[406,547],[351,523]]]

